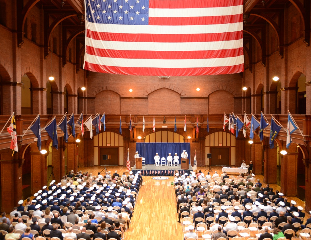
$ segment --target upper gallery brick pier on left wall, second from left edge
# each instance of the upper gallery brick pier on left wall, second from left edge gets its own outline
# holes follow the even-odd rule
[[[32,113],[46,114],[46,88],[36,87],[30,88],[32,94]]]

